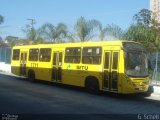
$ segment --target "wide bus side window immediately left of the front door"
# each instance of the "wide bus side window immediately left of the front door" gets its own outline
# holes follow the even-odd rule
[[[84,47],[82,53],[83,64],[101,64],[101,47]]]

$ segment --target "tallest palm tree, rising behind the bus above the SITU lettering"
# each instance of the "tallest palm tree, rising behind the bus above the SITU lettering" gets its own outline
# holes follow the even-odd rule
[[[81,42],[88,41],[94,37],[93,30],[94,28],[99,28],[99,25],[100,22],[97,20],[87,21],[84,17],[80,17],[74,26],[76,36]]]

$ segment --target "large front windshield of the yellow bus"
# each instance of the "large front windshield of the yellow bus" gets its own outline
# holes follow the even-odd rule
[[[129,76],[144,77],[148,76],[148,61],[145,49],[136,43],[124,45],[125,51],[125,72]]]

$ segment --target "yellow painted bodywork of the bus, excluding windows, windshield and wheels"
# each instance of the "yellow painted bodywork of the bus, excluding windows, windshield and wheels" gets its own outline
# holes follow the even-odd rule
[[[102,48],[100,64],[82,63],[83,48],[97,46]],[[45,48],[51,49],[48,62],[29,60],[31,49],[39,50],[38,59],[40,59],[40,50]],[[65,62],[67,48],[81,49],[79,63]],[[19,59],[16,59],[16,55],[14,56],[13,53],[18,53],[16,51],[18,49],[20,50],[20,55]],[[89,49],[88,52],[90,52]],[[35,78],[38,80],[85,87],[86,78],[94,77],[98,80],[99,89],[102,91],[129,94],[146,92],[148,90],[148,77],[134,78],[126,74],[122,41],[15,46],[13,47],[12,58],[15,57],[16,60],[12,59],[11,70],[13,74],[18,76],[21,76],[20,66],[25,59],[25,57],[21,58],[21,56],[24,56],[22,53],[27,55],[25,64],[22,64],[22,66],[26,66],[26,75],[23,75],[25,77],[28,77],[28,72],[33,70]],[[45,53],[43,54],[45,55]],[[105,68],[105,59],[108,59],[107,55],[110,57],[108,61],[109,66]]]

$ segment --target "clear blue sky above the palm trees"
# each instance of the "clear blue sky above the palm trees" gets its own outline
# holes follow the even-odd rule
[[[44,23],[65,23],[69,29],[81,16],[86,20],[99,20],[103,26],[119,25],[127,29],[133,23],[134,14],[149,9],[149,0],[0,0],[0,36],[25,38],[22,29],[35,19],[35,28]]]

